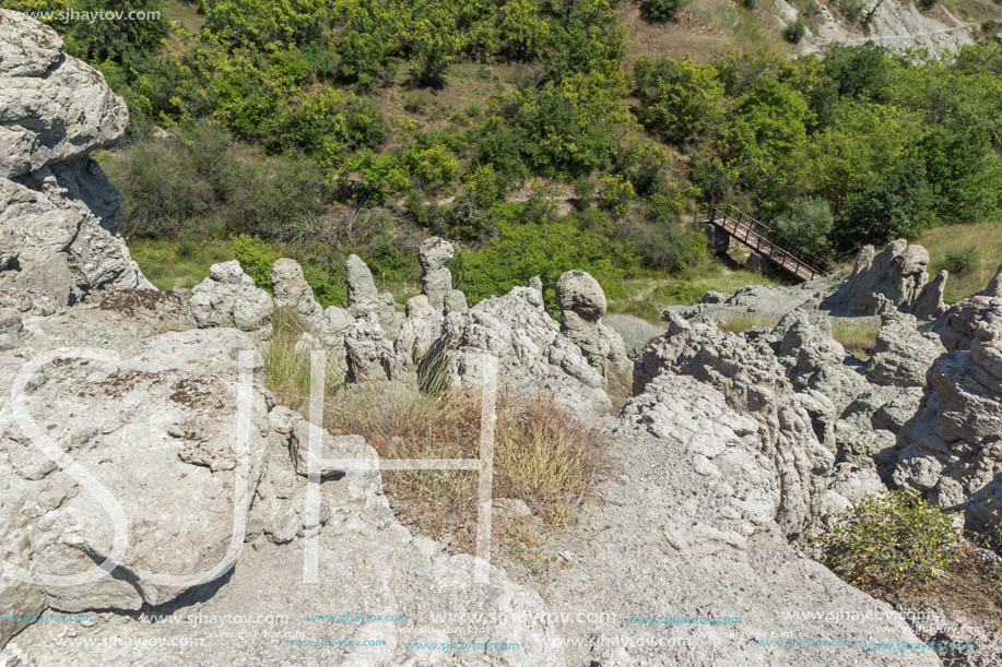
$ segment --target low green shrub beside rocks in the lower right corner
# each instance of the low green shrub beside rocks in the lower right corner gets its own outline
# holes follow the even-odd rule
[[[962,532],[918,496],[888,491],[863,499],[818,540],[828,565],[850,584],[896,591],[946,570]]]

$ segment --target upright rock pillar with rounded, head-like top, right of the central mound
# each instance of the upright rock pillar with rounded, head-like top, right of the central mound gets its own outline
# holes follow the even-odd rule
[[[585,271],[567,271],[556,282],[556,301],[561,307],[561,333],[574,341],[588,362],[602,377],[608,369],[629,374],[633,369],[626,345],[614,330],[602,324],[605,293]]]

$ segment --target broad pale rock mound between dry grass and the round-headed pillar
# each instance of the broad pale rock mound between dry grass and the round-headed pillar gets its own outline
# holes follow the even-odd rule
[[[553,396],[558,405],[592,420],[609,412],[602,374],[546,314],[543,295],[514,287],[467,312],[446,315],[441,335],[421,368],[425,381],[478,386],[497,358],[497,382],[523,397]]]

